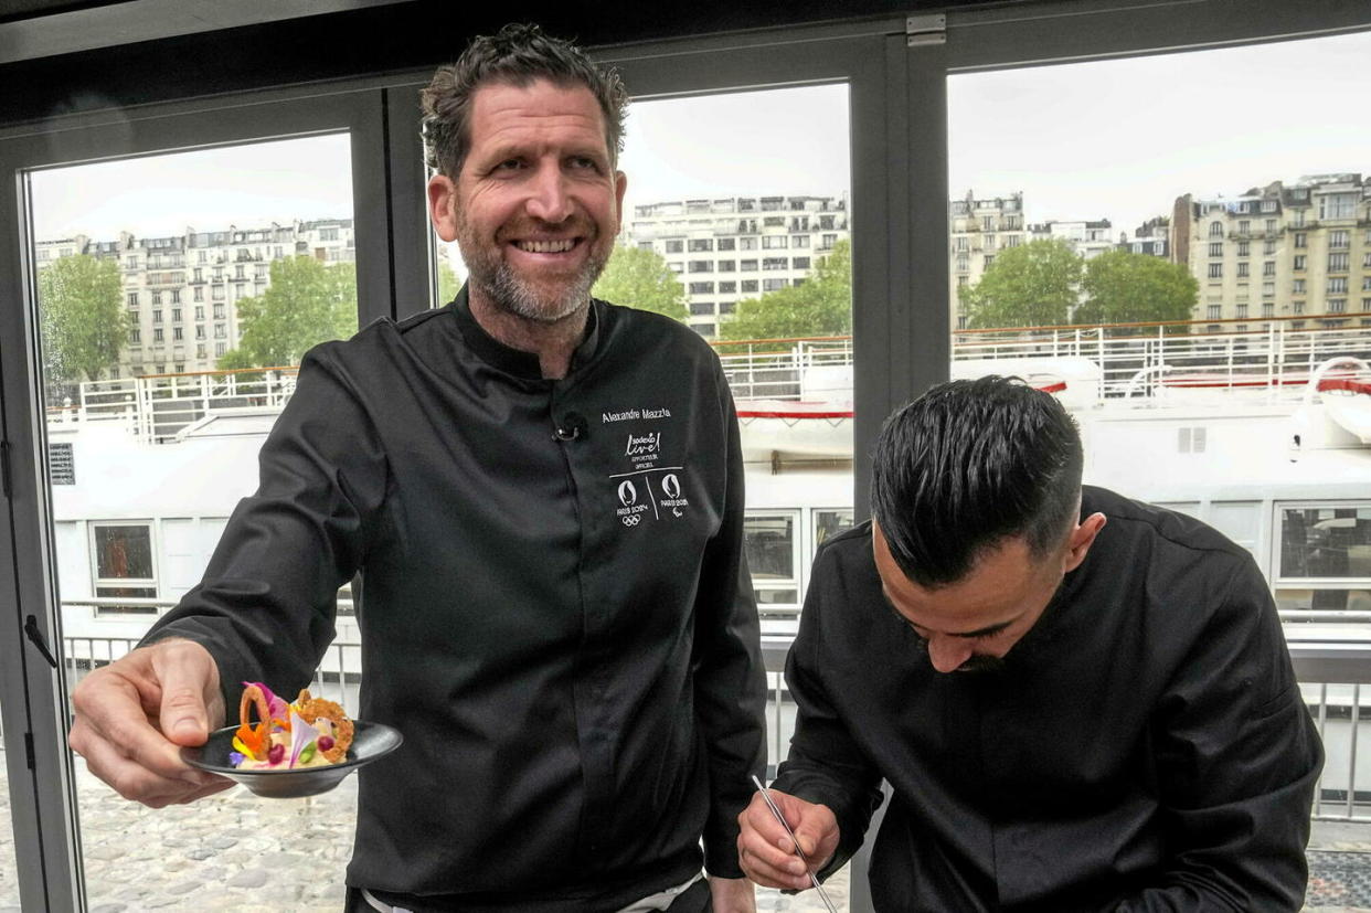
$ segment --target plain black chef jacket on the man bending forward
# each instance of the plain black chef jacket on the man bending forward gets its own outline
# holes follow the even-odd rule
[[[871,524],[814,563],[776,781],[872,850],[880,912],[1297,910],[1322,747],[1265,581],[1196,520],[1086,488],[1106,525],[999,673],[932,669]]]

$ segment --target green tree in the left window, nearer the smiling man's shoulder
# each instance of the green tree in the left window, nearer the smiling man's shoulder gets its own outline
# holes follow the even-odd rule
[[[240,299],[237,308],[243,339],[217,366],[299,365],[318,343],[356,332],[356,270],[311,256],[274,260],[271,284],[259,296]]]

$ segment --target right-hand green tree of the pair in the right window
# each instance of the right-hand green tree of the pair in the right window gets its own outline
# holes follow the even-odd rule
[[[1076,324],[1187,321],[1200,300],[1200,282],[1185,266],[1131,251],[1087,260],[1082,289]]]

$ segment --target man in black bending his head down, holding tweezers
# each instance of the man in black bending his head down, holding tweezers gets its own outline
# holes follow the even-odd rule
[[[1080,485],[1075,424],[986,377],[886,422],[872,520],[827,541],[772,796],[877,910],[1297,910],[1322,746],[1252,557]],[[805,888],[761,796],[760,884]]]

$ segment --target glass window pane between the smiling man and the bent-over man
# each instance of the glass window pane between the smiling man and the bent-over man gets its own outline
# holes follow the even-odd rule
[[[635,100],[624,230],[595,288],[714,343],[742,428],[757,596],[788,607],[764,617],[773,633],[795,626],[813,511],[840,509],[850,522],[847,125],[842,84]],[[627,281],[633,258],[661,278]]]

